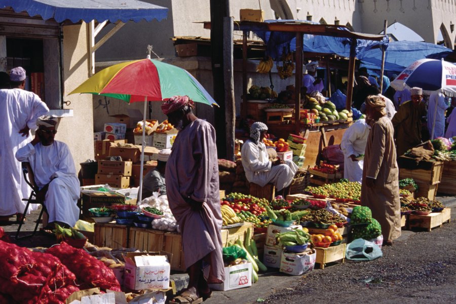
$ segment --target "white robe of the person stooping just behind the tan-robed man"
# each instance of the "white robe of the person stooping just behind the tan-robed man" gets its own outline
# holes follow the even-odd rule
[[[354,162],[351,155],[364,154],[370,126],[364,119],[357,120],[348,128],[340,142],[340,148],[344,153],[344,178],[359,183],[363,180],[364,161]]]

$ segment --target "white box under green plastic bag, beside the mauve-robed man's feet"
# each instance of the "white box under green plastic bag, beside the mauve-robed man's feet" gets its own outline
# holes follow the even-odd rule
[[[252,263],[242,263],[225,267],[225,281],[221,284],[209,284],[215,290],[233,290],[252,286]]]

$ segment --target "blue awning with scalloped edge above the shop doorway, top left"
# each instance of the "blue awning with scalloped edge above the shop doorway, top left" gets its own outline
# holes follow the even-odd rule
[[[0,9],[11,7],[16,13],[26,12],[33,17],[57,22],[80,20],[99,22],[138,22],[142,19],[158,21],[165,19],[168,9],[138,0],[0,0]]]

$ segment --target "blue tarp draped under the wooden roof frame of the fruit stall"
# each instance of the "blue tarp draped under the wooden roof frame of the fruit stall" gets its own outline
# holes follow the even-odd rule
[[[285,21],[294,21],[294,22],[304,22],[318,24],[315,22],[302,21],[302,20],[266,20],[264,22],[273,23],[273,22],[285,22]],[[339,30],[348,30],[345,27],[339,27]],[[260,37],[260,39],[266,44],[267,53],[269,56],[275,58],[276,60],[283,53],[283,48],[288,51],[294,51],[296,49],[296,34],[294,32],[271,32],[271,31],[262,31],[262,30],[253,30],[253,32]],[[357,39],[355,46],[355,56],[359,57],[364,52],[372,48],[383,47],[388,48],[388,39],[385,36],[382,41],[371,41],[371,40],[362,40]],[[305,34],[303,37],[303,51],[304,52],[313,52],[313,53],[326,53],[326,54],[337,54],[343,57],[350,57],[352,41],[349,38],[345,37],[332,37],[325,35],[310,35]]]

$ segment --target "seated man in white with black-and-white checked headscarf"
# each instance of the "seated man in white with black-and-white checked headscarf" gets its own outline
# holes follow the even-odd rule
[[[269,160],[266,146],[263,143],[266,131],[268,131],[268,127],[260,122],[253,123],[250,127],[250,138],[241,148],[245,177],[249,182],[261,187],[273,183],[279,192],[283,191],[282,195],[285,197],[298,167],[292,161],[271,162]]]

